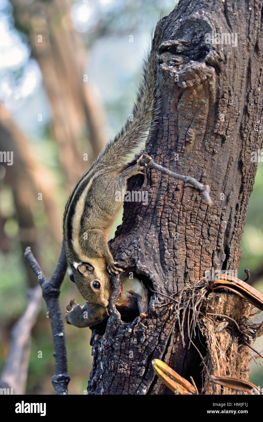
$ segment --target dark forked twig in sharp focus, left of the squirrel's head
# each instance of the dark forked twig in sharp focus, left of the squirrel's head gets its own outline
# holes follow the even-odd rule
[[[30,267],[32,268],[35,276],[38,278],[39,284],[43,292],[43,298],[46,301],[46,306],[49,312],[54,341],[55,357],[55,368],[54,375],[52,376],[52,385],[54,387],[55,394],[65,395],[68,394],[68,383],[70,381],[70,376],[68,375],[68,361],[64,323],[58,300],[60,295],[60,286],[64,279],[67,268],[65,245],[63,242],[57,267],[49,281],[46,280],[40,266],[38,265],[38,262],[35,260],[35,257],[29,247],[27,247],[27,249],[25,250],[24,256],[27,259]]]

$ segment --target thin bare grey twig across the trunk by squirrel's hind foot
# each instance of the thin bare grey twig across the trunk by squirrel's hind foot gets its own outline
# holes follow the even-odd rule
[[[138,165],[141,168],[155,168],[155,170],[159,170],[162,173],[168,174],[168,176],[173,177],[174,179],[182,180],[184,183],[190,183],[196,189],[199,189],[200,192],[203,194],[207,204],[209,206],[213,205],[213,201],[209,195],[210,187],[209,185],[203,185],[202,183],[198,182],[194,177],[190,176],[183,176],[182,174],[175,173],[174,171],[169,170],[168,168],[163,167],[162,165],[156,164],[152,157],[150,157],[147,152],[144,152],[142,157],[138,160]]]

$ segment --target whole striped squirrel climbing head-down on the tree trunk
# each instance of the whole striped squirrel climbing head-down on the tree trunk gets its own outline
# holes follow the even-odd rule
[[[162,39],[161,24],[160,20],[152,49],[144,60],[144,76],[131,118],[108,141],[65,206],[63,236],[70,280],[87,301],[104,307],[112,291],[110,274],[123,271],[116,266],[107,242],[122,205],[115,200],[115,192],[126,190],[127,179],[142,170],[138,155],[126,164],[123,161],[145,139],[151,121],[156,123],[160,114],[156,54]]]

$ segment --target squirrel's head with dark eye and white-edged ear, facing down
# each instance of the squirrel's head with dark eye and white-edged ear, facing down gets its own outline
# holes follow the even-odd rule
[[[73,262],[68,268],[69,278],[76,283],[81,295],[90,303],[105,308],[111,297],[111,278],[104,260],[101,262]]]

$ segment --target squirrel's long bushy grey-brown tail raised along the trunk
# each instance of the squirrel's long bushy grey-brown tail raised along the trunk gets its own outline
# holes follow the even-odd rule
[[[160,95],[157,81],[156,53],[162,42],[162,19],[157,24],[152,48],[144,60],[143,79],[138,88],[137,100],[125,125],[114,139],[106,144],[99,154],[96,164],[121,169],[128,154],[145,140],[150,123],[156,122],[160,110]]]

